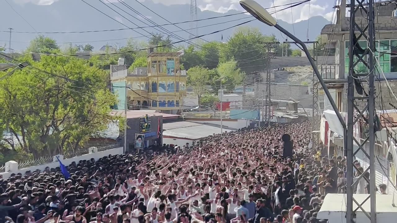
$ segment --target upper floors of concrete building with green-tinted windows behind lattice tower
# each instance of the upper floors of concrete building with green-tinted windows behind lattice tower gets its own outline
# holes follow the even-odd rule
[[[321,65],[321,73],[323,79],[328,84],[330,92],[337,102],[339,110],[345,111],[347,98],[347,73],[349,69],[349,27],[350,18],[346,17],[346,0],[341,1],[337,7],[336,24],[328,24],[321,31],[321,37],[327,43],[329,48],[335,48],[335,62]],[[343,4],[344,2],[344,4]],[[393,92],[397,92],[397,17],[392,16],[393,10],[396,8],[394,1],[376,2],[374,7],[375,30],[376,30],[376,67],[380,73],[380,79],[376,80],[377,92],[381,93],[383,98],[383,109],[393,109],[389,103],[393,104],[389,90],[384,81],[382,71],[389,80],[389,85],[393,88]],[[365,13],[364,13],[365,14]],[[360,29],[368,24],[366,15],[362,16],[356,13],[355,20],[360,24]],[[364,37],[358,40],[358,44],[362,49],[367,48],[367,41]],[[368,73],[366,67],[362,63],[355,66],[358,73]],[[368,89],[364,89],[368,92]],[[357,95],[357,93],[356,93]],[[380,108],[380,97],[376,99],[377,108]],[[395,103],[395,102],[394,102]],[[328,99],[324,99],[324,107],[327,109]],[[359,107],[362,105],[358,105]]]

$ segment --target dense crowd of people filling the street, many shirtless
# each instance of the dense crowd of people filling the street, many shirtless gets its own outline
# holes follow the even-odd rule
[[[309,122],[289,123],[80,160],[67,179],[60,167],[12,174],[0,179],[0,223],[326,222],[317,212],[343,192],[344,161],[311,138]]]

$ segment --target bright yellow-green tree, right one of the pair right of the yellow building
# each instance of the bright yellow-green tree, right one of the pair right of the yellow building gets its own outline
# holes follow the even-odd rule
[[[222,88],[228,91],[233,90],[236,85],[241,84],[245,75],[244,71],[241,71],[241,69],[237,67],[237,62],[234,60],[220,63],[216,69],[219,76],[224,77],[222,79]]]

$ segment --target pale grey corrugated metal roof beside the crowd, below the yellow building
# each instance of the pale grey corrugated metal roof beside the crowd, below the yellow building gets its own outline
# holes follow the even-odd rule
[[[163,136],[188,138],[193,140],[204,138],[213,134],[218,134],[221,131],[220,127],[188,121],[164,123],[163,129]],[[223,128],[222,131],[231,132],[233,130]]]

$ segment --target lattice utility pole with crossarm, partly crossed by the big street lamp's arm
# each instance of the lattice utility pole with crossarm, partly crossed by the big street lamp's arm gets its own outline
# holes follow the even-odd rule
[[[296,44],[297,42],[284,42],[284,43],[293,43]],[[317,48],[317,41],[305,41],[303,42],[305,44],[313,44],[313,55],[312,57],[314,58],[316,62],[316,66],[318,65],[317,63],[317,58],[318,56],[316,55],[316,48]],[[318,80],[316,77],[316,73],[313,70],[313,76],[312,76],[312,102],[313,102],[313,109],[312,109],[312,132],[318,129],[317,123],[318,123]],[[302,107],[303,108],[303,107]],[[317,136],[316,134],[314,134]],[[313,142],[318,142],[318,139],[314,138]]]

